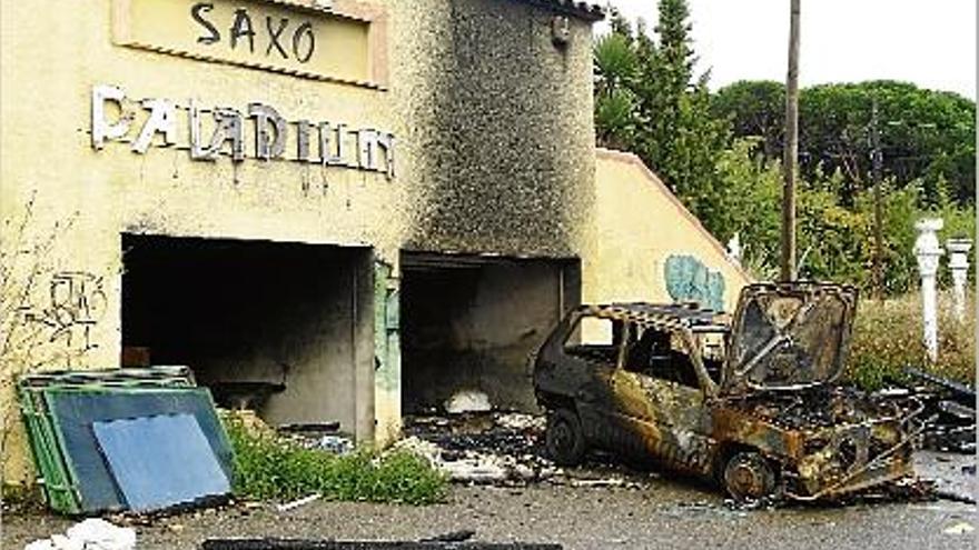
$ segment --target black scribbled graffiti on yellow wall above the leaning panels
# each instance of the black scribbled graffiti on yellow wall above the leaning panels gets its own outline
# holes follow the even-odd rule
[[[51,277],[47,303],[24,311],[24,319],[46,327],[49,342],[70,352],[86,352],[97,347],[91,332],[105,312],[101,277],[86,271],[59,271]]]

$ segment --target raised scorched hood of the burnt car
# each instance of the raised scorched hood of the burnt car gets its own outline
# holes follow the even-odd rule
[[[857,289],[793,282],[741,291],[722,393],[792,390],[837,380],[843,370]]]

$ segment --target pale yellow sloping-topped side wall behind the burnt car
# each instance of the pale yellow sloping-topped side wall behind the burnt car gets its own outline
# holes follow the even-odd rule
[[[748,273],[672,192],[632,153],[599,149],[591,253],[583,260],[584,302],[670,303],[665,262],[671,254],[699,259],[722,273],[724,304],[733,311]]]

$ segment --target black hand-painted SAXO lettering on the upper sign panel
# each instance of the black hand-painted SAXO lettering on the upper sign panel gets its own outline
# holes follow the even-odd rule
[[[214,9],[211,2],[197,2],[190,7],[190,18],[200,30],[197,42],[218,47],[222,36],[214,20]],[[263,20],[265,24],[261,24]],[[308,63],[316,53],[316,32],[309,21],[295,24],[285,17],[253,18],[248,9],[238,8],[226,28],[227,47],[233,51],[247,48],[250,53],[295,59],[300,63]],[[257,50],[256,43],[259,44]]]

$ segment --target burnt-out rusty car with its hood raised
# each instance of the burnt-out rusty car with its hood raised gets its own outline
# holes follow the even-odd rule
[[[695,304],[582,306],[533,359],[546,447],[601,448],[713,477],[738,500],[815,500],[912,472],[917,411],[838,386],[848,286],[745,287],[731,316]]]

